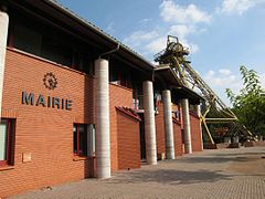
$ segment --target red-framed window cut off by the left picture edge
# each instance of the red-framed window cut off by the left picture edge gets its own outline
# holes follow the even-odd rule
[[[0,123],[0,166],[13,165],[14,121],[1,119]]]

